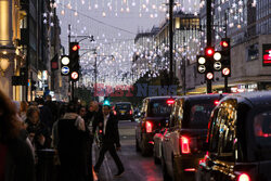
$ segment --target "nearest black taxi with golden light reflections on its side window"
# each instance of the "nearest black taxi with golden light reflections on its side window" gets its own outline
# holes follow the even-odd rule
[[[198,181],[271,181],[271,92],[229,95],[212,112]]]

